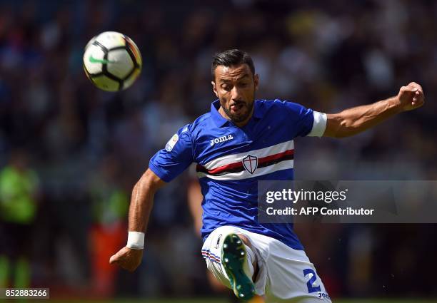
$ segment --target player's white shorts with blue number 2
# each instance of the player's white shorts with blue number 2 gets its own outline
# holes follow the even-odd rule
[[[202,247],[206,266],[223,285],[230,288],[229,279],[220,262],[223,240],[230,233],[244,235],[251,242],[258,265],[255,291],[264,296],[266,302],[295,302],[296,299],[306,298],[331,302],[316,268],[303,250],[293,250],[272,237],[233,226],[216,228]],[[253,269],[245,268],[245,272],[251,277]]]

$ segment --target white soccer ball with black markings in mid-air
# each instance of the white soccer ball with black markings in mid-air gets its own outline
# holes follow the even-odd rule
[[[86,76],[104,91],[129,88],[138,78],[141,66],[141,53],[134,41],[116,31],[105,31],[85,46]]]

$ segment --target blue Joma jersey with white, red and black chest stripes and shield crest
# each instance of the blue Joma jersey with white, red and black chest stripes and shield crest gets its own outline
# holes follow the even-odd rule
[[[303,250],[292,224],[258,222],[257,191],[258,180],[293,179],[293,138],[311,132],[313,111],[286,101],[255,101],[251,119],[239,128],[218,108],[214,101],[211,112],[182,127],[149,168],[170,182],[197,163],[204,240],[217,227],[232,225]]]

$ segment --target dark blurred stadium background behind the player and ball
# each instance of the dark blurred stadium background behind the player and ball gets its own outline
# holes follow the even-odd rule
[[[0,287],[221,296],[206,279],[189,172],[156,195],[141,267],[131,274],[108,260],[126,243],[131,189],[151,155],[209,111],[211,58],[227,48],[253,56],[258,98],[326,113],[421,83],[424,108],[353,138],[298,138],[295,175],[436,180],[437,2],[309,2],[0,1]],[[84,46],[102,31],[141,50],[127,91],[99,91],[84,74]],[[333,298],[437,297],[436,225],[296,232]]]

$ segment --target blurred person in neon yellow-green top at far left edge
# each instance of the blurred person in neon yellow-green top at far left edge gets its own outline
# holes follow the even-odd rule
[[[0,287],[30,287],[39,180],[26,151],[14,150],[0,171]]]

